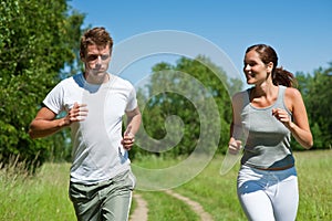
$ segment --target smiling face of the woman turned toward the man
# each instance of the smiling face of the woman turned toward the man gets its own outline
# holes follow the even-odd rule
[[[251,50],[245,55],[243,72],[248,84],[260,84],[271,78],[271,71],[273,64],[270,62],[268,65],[264,64],[259,54]]]

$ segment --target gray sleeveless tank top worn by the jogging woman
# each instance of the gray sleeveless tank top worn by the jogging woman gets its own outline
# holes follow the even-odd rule
[[[284,105],[284,86],[279,86],[278,98],[269,107],[257,108],[250,104],[250,90],[243,92],[243,108],[241,112],[242,129],[246,141],[241,164],[261,168],[273,169],[294,165],[290,147],[290,130],[272,116],[273,108],[291,112]]]

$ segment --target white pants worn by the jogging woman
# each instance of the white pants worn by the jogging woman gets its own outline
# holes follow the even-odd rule
[[[241,166],[238,197],[248,220],[294,221],[299,204],[297,170],[294,167],[271,171]]]

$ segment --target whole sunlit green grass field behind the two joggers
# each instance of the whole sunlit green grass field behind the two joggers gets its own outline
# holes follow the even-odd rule
[[[298,221],[332,220],[332,150],[295,152],[300,186]],[[167,165],[173,160],[148,158],[137,165]],[[193,180],[173,189],[204,208],[214,220],[246,220],[236,196],[238,165],[220,176],[222,157],[217,156]],[[35,176],[19,166],[0,170],[0,220],[75,220],[68,197],[69,164],[45,164]],[[164,191],[139,191],[147,202],[148,220],[199,220],[185,202]],[[134,201],[132,210],[137,207]]]

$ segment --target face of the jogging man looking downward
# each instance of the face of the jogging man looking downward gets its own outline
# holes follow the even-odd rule
[[[110,46],[98,48],[97,45],[89,45],[83,62],[85,64],[85,77],[92,82],[100,82],[107,74],[111,61]]]

